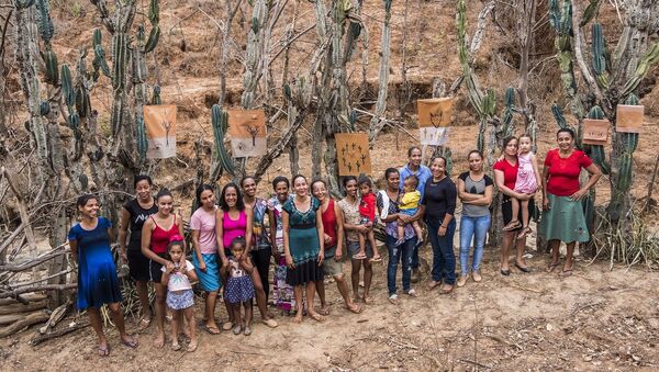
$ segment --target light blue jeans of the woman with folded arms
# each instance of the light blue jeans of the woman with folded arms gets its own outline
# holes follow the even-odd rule
[[[462,215],[460,219],[460,269],[462,277],[469,274],[469,248],[473,238],[473,260],[471,271],[478,271],[483,259],[483,247],[492,217],[488,214],[479,217]]]

